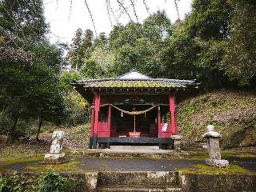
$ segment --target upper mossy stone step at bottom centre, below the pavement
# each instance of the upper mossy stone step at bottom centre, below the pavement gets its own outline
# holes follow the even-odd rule
[[[101,172],[98,186],[179,186],[178,173],[171,171],[122,171]]]

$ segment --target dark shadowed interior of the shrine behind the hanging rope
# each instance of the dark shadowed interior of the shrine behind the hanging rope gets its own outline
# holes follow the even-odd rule
[[[120,105],[122,110],[142,111],[151,105]],[[142,138],[158,138],[158,107],[143,114],[135,115],[135,129],[141,132]],[[161,106],[161,122],[170,122],[168,118],[169,106]],[[108,106],[102,106],[99,114],[100,122],[107,122]],[[129,132],[134,131],[134,115],[122,113],[112,107],[110,137],[129,137]]]

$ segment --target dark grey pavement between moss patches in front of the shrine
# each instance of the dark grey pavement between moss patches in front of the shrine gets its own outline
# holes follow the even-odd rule
[[[231,165],[242,166],[248,170],[256,171],[255,158],[229,159]],[[150,159],[150,158],[70,158],[70,161],[82,162],[82,170],[118,170],[118,171],[171,171],[181,168],[192,168],[197,164],[204,164],[203,160],[190,159]],[[22,171],[26,166],[38,164],[37,162],[19,162],[8,165],[5,169]],[[63,164],[65,165],[65,164]]]

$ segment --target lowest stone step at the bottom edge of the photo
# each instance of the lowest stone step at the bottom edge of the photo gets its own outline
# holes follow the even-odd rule
[[[97,192],[176,192],[182,191],[178,187],[149,187],[149,186],[111,186],[111,187],[98,187]]]

